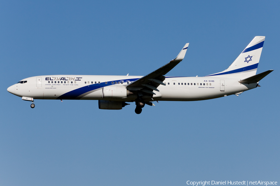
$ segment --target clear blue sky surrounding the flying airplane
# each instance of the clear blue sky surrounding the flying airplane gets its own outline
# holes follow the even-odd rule
[[[1,1],[0,185],[280,181],[278,1]],[[7,92],[37,75],[168,76],[226,69],[266,36],[261,87],[214,100],[100,110],[92,100]]]

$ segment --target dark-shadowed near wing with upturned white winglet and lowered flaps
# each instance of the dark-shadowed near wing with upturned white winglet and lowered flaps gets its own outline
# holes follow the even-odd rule
[[[165,86],[165,84],[163,83],[163,81],[165,80],[164,75],[184,59],[188,46],[189,43],[185,44],[183,49],[180,51],[180,53],[174,60],[170,61],[161,68],[153,71],[152,73],[149,73],[148,75],[139,78],[133,83],[128,84],[126,88],[129,91],[132,91],[133,93],[137,92],[139,96],[150,95],[152,98],[152,95],[155,95],[153,91],[159,91],[157,89],[159,85]]]

